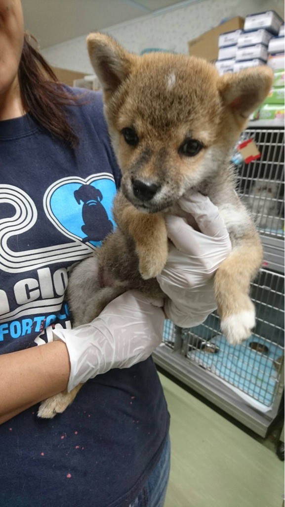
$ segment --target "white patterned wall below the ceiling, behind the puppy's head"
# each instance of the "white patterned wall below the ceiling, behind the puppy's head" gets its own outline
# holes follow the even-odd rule
[[[223,19],[272,9],[283,18],[283,0],[201,0],[102,31],[135,53],[149,47],[187,53],[187,41],[217,26]],[[53,66],[91,74],[85,40],[86,36],[52,46],[43,50],[43,55]]]

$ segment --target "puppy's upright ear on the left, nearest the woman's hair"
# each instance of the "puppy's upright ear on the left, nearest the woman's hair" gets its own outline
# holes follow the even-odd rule
[[[91,63],[106,93],[113,93],[128,77],[136,56],[104,33],[90,33],[87,47]]]

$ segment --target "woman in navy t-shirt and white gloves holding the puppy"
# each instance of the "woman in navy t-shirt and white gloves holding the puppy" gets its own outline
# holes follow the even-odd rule
[[[150,354],[165,313],[130,291],[71,330],[68,271],[100,245],[84,240],[78,190],[96,189],[87,202],[100,201],[110,229],[120,174],[101,95],[56,82],[24,33],[20,0],[0,0],[0,161],[0,504],[161,507],[169,414]],[[213,274],[230,241],[207,198],[181,205],[201,232],[169,218],[160,283],[167,316],[189,327],[215,308]],[[38,402],[82,375],[90,380],[63,414],[37,417]]]

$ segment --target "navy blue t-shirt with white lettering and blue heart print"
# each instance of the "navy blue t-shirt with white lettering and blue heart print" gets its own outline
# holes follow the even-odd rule
[[[102,97],[90,92],[67,111],[80,138],[75,152],[30,115],[0,122],[0,353],[39,346],[53,327],[71,327],[68,269],[114,227],[120,173]],[[96,203],[93,229],[87,195]],[[128,507],[169,428],[151,358],[88,381],[52,420],[36,412],[0,426],[2,507]]]

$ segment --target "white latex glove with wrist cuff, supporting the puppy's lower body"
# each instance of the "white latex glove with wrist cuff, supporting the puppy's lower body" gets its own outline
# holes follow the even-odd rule
[[[70,358],[67,390],[112,368],[130,368],[147,359],[162,340],[163,301],[129,291],[109,303],[90,324],[53,330]]]

